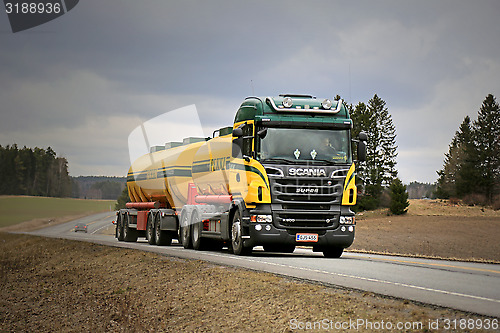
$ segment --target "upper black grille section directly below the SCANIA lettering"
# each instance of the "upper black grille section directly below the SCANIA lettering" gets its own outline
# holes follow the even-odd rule
[[[322,178],[271,178],[273,202],[281,204],[340,204],[342,180]]]

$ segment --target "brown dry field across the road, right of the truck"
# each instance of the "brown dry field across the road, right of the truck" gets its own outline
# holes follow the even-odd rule
[[[408,214],[385,210],[357,218],[351,251],[500,262],[500,212],[411,200]]]

